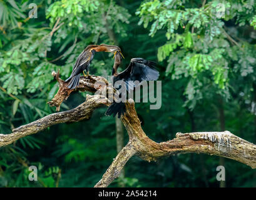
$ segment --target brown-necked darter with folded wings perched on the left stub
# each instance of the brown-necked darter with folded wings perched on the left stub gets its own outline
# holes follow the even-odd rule
[[[68,79],[66,79],[66,83],[68,83],[69,89],[74,89],[76,86],[79,85],[80,74],[84,74],[84,70],[86,70],[87,76],[90,76],[90,64],[93,60],[93,57],[96,52],[112,52],[114,53],[114,57],[116,55],[123,56],[121,53],[121,49],[118,46],[101,44],[101,45],[89,45],[87,46],[84,51],[78,56],[76,59],[76,63],[74,64],[73,71]],[[86,76],[86,74],[84,74]]]

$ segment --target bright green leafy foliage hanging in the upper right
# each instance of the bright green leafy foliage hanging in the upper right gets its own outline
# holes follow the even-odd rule
[[[245,11],[245,8],[248,10]],[[187,102],[193,101],[193,106],[190,106],[193,109],[197,100],[203,98],[204,88],[208,90],[217,86],[219,93],[227,99],[227,93],[223,91],[229,89],[228,74],[233,73],[232,66],[234,61],[237,62],[237,59],[234,60],[237,54],[246,49],[230,47],[230,36],[225,31],[224,21],[237,17],[239,26],[245,25],[247,21],[253,26],[254,18],[251,21],[250,16],[254,12],[252,1],[207,1],[200,7],[197,3],[188,6],[185,1],[154,0],[143,2],[136,14],[140,16],[139,24],[143,23],[144,27],[152,22],[150,36],[165,29],[167,41],[158,48],[158,61],[168,58],[166,75],[172,74],[172,79],[183,78],[182,75],[190,78],[185,94]],[[244,42],[243,46],[248,44]],[[232,58],[225,54],[230,50],[235,54]],[[244,62],[246,67],[242,67],[242,76],[253,71],[253,67],[248,66],[247,61]],[[198,98],[192,94],[198,94]]]

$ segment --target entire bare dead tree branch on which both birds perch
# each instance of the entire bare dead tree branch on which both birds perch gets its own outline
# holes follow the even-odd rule
[[[86,101],[74,109],[50,114],[33,123],[14,129],[11,134],[0,134],[0,147],[11,144],[29,134],[43,131],[43,129],[54,124],[89,119],[94,109],[102,105],[110,106],[111,101],[110,98],[106,98],[106,94],[113,93],[115,89],[105,78],[100,76],[81,77],[76,89],[68,89],[67,83],[59,78],[59,71],[52,74],[59,83],[59,91],[48,104],[56,106],[57,111],[59,111],[64,99],[68,99],[69,94],[74,90],[91,91],[96,92],[96,94],[86,96]],[[128,132],[129,142],[118,153],[95,187],[107,187],[115,178],[118,178],[121,169],[133,155],[150,162],[177,153],[204,153],[233,159],[247,164],[253,169],[256,168],[256,145],[235,136],[229,131],[177,133],[176,138],[170,141],[156,143],[148,138],[141,128],[140,119],[138,119],[135,111],[135,103],[131,99],[126,103],[126,113],[121,116],[121,121]]]

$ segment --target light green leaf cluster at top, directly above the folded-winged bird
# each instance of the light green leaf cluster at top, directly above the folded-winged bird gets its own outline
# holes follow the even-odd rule
[[[71,35],[90,34],[93,42],[106,39],[109,29],[115,30],[121,37],[126,36],[123,23],[129,23],[130,14],[125,8],[113,1],[76,0],[56,1],[47,10],[46,18],[54,25],[57,19],[63,23],[58,33],[59,37],[66,39]],[[58,37],[56,42],[60,41]]]

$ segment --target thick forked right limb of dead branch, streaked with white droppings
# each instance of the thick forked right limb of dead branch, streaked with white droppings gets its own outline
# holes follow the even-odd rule
[[[145,161],[157,159],[177,153],[204,153],[239,161],[251,168],[256,168],[256,145],[241,139],[229,131],[203,133],[177,133],[176,138],[163,143],[152,141],[140,126],[140,119],[135,111],[134,102],[126,104],[126,114],[121,120],[129,135],[129,143],[125,151],[120,151],[116,158],[123,158],[126,163],[133,154]],[[129,146],[129,148],[127,147]],[[113,161],[110,168],[95,187],[108,187],[113,177],[118,177],[123,165]],[[113,174],[115,172],[115,174]]]

